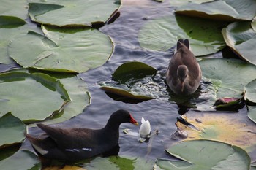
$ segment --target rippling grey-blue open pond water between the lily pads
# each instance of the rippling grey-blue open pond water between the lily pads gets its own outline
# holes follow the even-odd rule
[[[114,42],[114,52],[111,58],[103,66],[97,69],[91,69],[86,73],[79,74],[89,87],[91,94],[91,105],[84,109],[83,113],[77,117],[60,123],[67,128],[83,127],[83,128],[102,128],[107,122],[112,112],[118,109],[127,109],[135,117],[135,120],[140,122],[141,117],[149,120],[152,130],[159,130],[159,134],[153,136],[149,142],[140,143],[138,137],[130,136],[121,133],[126,128],[132,131],[138,131],[136,127],[129,123],[124,123],[120,127],[120,151],[118,155],[129,155],[135,157],[148,158],[155,160],[156,158],[170,158],[165,149],[176,142],[171,139],[171,134],[175,133],[177,127],[175,125],[180,113],[184,112],[199,112],[195,109],[187,109],[186,107],[178,107],[174,101],[169,98],[157,98],[149,101],[143,101],[137,104],[125,103],[123,101],[115,101],[110,98],[104,90],[100,89],[99,82],[111,80],[111,74],[122,63],[128,61],[141,61],[150,66],[155,67],[158,72],[159,83],[164,83],[164,77],[167,65],[173,55],[173,48],[166,52],[156,52],[144,50],[138,42],[138,31],[151,18],[159,18],[162,15],[167,15],[173,12],[168,1],[158,3],[155,1],[124,1],[122,5],[121,16],[114,23],[100,28],[100,31],[108,34]],[[158,42],[155,42],[158,43]],[[12,66],[11,66],[12,67]],[[1,70],[8,69],[1,66]],[[9,68],[10,69],[10,68]],[[202,82],[203,83],[203,82]],[[202,84],[203,86],[203,84]],[[166,93],[170,93],[167,85],[164,85]],[[200,93],[200,92],[199,92]],[[212,113],[213,111],[211,111]],[[203,112],[205,114],[211,114]],[[246,116],[246,108],[238,110],[234,114],[229,114],[230,120],[241,119],[244,123],[249,124],[252,121]],[[35,129],[34,133],[37,130]],[[250,154],[252,159],[255,159],[255,153]]]

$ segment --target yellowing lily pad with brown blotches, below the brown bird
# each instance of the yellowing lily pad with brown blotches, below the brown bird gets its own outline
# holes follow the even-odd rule
[[[189,113],[182,115],[187,125],[178,121],[178,131],[187,134],[185,140],[212,139],[237,145],[245,150],[252,151],[256,147],[256,131],[254,123],[244,123],[238,115],[211,113]]]

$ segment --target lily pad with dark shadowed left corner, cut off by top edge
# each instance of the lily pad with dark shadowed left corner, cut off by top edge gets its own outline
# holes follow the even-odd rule
[[[29,15],[35,22],[47,25],[91,26],[104,23],[118,7],[114,0],[35,0],[29,3]]]

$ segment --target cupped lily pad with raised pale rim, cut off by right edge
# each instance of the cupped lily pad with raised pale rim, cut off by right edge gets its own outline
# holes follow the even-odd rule
[[[230,23],[222,30],[225,42],[242,59],[256,65],[256,32],[251,22]]]

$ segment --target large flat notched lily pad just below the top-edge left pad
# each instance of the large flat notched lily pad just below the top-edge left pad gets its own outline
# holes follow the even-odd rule
[[[8,47],[10,57],[25,68],[86,72],[101,66],[112,54],[113,43],[97,29],[42,26],[42,30],[45,36],[29,32],[13,39]]]

